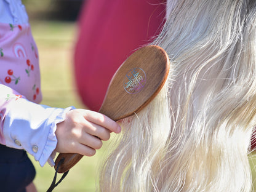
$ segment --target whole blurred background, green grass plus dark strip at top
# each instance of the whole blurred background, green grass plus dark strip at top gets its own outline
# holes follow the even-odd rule
[[[23,0],[30,17],[31,30],[39,50],[42,104],[65,108],[86,108],[74,86],[73,54],[76,43],[76,20],[86,0]],[[95,172],[101,152],[84,157],[54,191],[95,191]],[[54,167],[40,167],[34,161],[38,191],[46,191],[54,178]],[[60,178],[58,174],[58,178]]]

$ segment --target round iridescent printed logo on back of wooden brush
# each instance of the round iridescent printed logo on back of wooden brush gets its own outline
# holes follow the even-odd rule
[[[124,90],[128,94],[137,94],[146,84],[146,73],[142,68],[133,68],[124,78]]]

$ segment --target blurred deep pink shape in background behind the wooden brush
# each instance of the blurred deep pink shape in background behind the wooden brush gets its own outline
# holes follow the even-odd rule
[[[165,9],[164,0],[90,0],[84,4],[74,71],[79,95],[90,110],[99,110],[122,62],[159,34]]]

